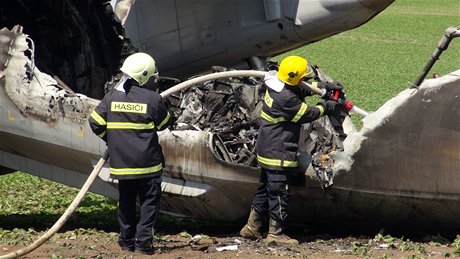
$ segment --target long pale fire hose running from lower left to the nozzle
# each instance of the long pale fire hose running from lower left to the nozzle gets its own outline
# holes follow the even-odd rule
[[[212,73],[212,74],[207,74],[203,76],[199,76],[190,80],[187,80],[185,82],[179,83],[170,89],[162,92],[160,95],[165,98],[175,92],[185,90],[195,84],[203,83],[206,81],[210,80],[216,80],[216,79],[221,79],[221,78],[228,78],[228,77],[264,77],[266,71],[256,71],[256,70],[234,70],[234,71],[225,71],[225,72],[218,72],[218,73]],[[316,91],[314,87],[309,86],[312,89],[312,92],[316,94],[320,94],[320,92]],[[320,90],[320,89],[319,89]],[[355,107],[355,109],[357,109]],[[355,110],[356,111],[356,110]],[[366,112],[360,112],[361,109],[358,110],[358,114],[360,115],[367,115]],[[37,239],[35,242],[32,244],[28,245],[25,248],[19,249],[17,251],[14,251],[9,254],[5,254],[0,256],[0,259],[9,259],[9,258],[18,258],[20,256],[23,256],[25,254],[28,254],[32,252],[33,250],[37,249],[41,245],[43,245],[48,239],[50,239],[59,229],[67,222],[67,220],[70,218],[72,213],[77,209],[78,205],[82,201],[83,197],[86,195],[88,192],[90,186],[93,184],[94,180],[98,176],[99,172],[102,170],[105,162],[109,158],[109,152],[106,150],[102,157],[99,159],[98,163],[94,167],[93,171],[91,174],[88,176],[88,179],[86,179],[85,183],[83,184],[82,188],[78,192],[77,196],[75,199],[72,201],[72,203],[69,205],[69,207],[66,209],[64,214],[56,221],[56,223],[45,233],[43,236],[41,236],[39,239]]]

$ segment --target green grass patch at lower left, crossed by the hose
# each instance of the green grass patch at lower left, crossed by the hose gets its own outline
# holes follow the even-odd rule
[[[78,191],[20,172],[2,175],[0,228],[48,228],[64,213]],[[66,226],[113,229],[117,226],[116,210],[116,201],[88,193]]]

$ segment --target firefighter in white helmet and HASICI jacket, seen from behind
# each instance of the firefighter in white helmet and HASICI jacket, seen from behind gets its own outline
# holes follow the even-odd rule
[[[121,80],[94,109],[89,124],[106,141],[110,177],[118,180],[118,244],[122,250],[153,254],[153,227],[164,166],[157,131],[166,129],[172,119],[162,97],[143,87],[151,77],[158,76],[150,55],[135,53],[126,58],[120,70]]]

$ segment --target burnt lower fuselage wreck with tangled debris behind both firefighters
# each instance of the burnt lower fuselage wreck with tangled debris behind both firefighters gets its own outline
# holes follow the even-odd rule
[[[41,73],[33,41],[20,27],[1,30],[0,39],[2,172],[21,170],[79,187],[105,150],[86,123],[99,100]],[[156,90],[177,83],[166,78]],[[233,76],[166,98],[177,121],[160,134],[163,212],[246,217],[258,185],[254,147],[263,93],[262,77]],[[457,70],[401,92],[365,116],[360,130],[344,116],[346,138],[327,117],[304,125],[305,165],[293,188],[290,222],[460,230],[459,96]],[[92,190],[117,198],[107,171]]]

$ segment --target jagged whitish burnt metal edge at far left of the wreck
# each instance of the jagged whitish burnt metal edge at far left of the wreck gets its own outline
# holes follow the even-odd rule
[[[83,123],[97,101],[73,94],[59,87],[56,80],[41,73],[27,55],[32,55],[33,41],[22,33],[22,27],[0,30],[2,58],[0,86],[24,116],[34,116],[47,123],[69,118]],[[10,111],[11,112],[11,111]]]

